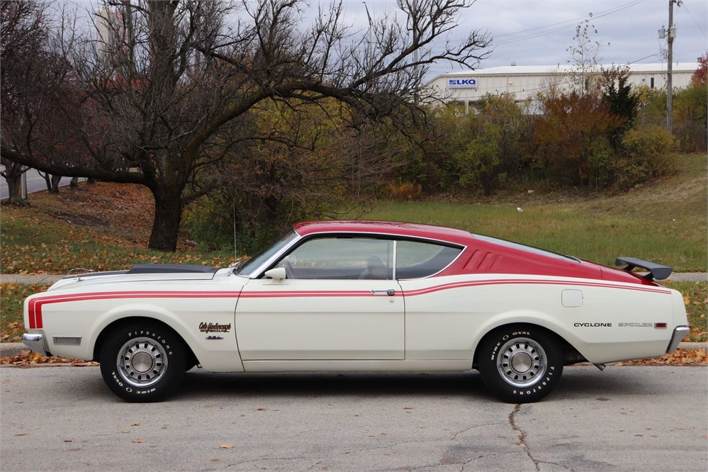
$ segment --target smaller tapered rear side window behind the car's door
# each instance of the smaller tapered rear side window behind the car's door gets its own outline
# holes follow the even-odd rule
[[[432,242],[398,241],[396,279],[422,279],[437,274],[455,260],[462,249]]]

